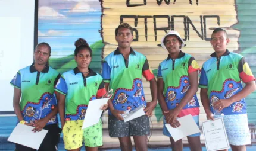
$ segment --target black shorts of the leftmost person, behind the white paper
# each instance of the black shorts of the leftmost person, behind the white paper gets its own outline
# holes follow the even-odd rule
[[[58,127],[58,124],[46,125],[44,130],[48,130],[48,133],[43,139],[41,146],[39,147],[39,151],[56,151],[58,150],[58,143],[60,141],[60,133],[61,129]],[[36,139],[36,138],[35,138]],[[20,144],[16,144],[15,151],[35,151],[36,149],[32,149]]]

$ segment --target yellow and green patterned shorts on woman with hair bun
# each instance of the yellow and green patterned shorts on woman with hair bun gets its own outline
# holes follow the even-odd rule
[[[85,143],[88,147],[102,146],[102,124],[99,123],[82,130],[83,120],[65,121],[63,140],[65,149],[77,149]]]

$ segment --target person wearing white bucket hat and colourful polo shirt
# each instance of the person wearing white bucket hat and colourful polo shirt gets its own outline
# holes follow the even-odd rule
[[[180,50],[185,43],[177,31],[168,31],[161,46],[168,51],[168,57],[160,63],[157,74],[158,102],[164,115],[163,134],[170,137],[172,150],[183,150],[182,139],[175,142],[165,124],[179,127],[177,118],[191,114],[199,126],[196,91],[200,68],[193,56]],[[188,136],[188,142],[191,150],[202,150],[200,133]]]

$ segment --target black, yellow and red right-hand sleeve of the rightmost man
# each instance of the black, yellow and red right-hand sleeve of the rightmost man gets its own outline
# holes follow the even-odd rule
[[[248,63],[245,62],[244,57],[242,57],[238,63],[238,72],[239,72],[240,78],[245,83],[255,80],[254,75],[252,74],[252,71],[251,71]]]

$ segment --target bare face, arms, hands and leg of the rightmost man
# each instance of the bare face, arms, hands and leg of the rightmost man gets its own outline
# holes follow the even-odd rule
[[[216,52],[217,57],[222,56],[227,49],[227,44],[229,43],[229,39],[226,38],[227,35],[224,31],[218,31],[217,33],[212,34],[211,36],[211,44],[213,46],[214,52]],[[238,102],[242,98],[247,97],[249,94],[256,90],[255,81],[250,81],[245,83],[245,87],[242,91],[238,92],[237,94],[233,95],[227,99],[220,99],[214,102],[213,107],[216,108],[218,111],[222,111],[223,108],[229,107],[233,102]],[[204,106],[205,113],[207,115],[208,120],[214,120],[213,113],[210,110],[210,100],[208,98],[208,89],[201,88],[200,91],[202,105]],[[246,146],[234,146],[230,145],[232,151],[246,151]]]

